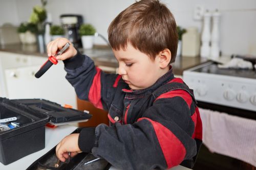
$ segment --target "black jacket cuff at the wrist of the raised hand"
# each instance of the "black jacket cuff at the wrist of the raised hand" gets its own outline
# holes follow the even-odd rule
[[[69,58],[67,60],[63,60],[63,63],[65,67],[68,69],[76,69],[82,66],[84,58],[85,57],[77,50],[77,54],[74,57]]]

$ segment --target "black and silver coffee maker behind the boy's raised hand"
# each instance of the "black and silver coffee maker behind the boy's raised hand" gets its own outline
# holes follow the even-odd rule
[[[73,45],[81,47],[81,38],[79,36],[79,27],[83,22],[81,15],[63,14],[60,15],[62,27],[65,29],[65,37],[69,39]]]

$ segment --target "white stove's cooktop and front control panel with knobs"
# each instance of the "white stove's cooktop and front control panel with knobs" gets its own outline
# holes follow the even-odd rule
[[[220,69],[210,61],[185,70],[183,80],[197,101],[256,112],[256,71]]]

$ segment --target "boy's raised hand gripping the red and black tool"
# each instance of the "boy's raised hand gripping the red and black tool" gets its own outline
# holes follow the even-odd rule
[[[62,55],[56,56],[57,60],[66,60],[71,57],[74,57],[77,54],[76,48],[73,44],[66,38],[57,38],[47,44],[47,54],[48,57],[54,56],[59,49],[61,49],[67,42],[70,43],[69,48],[62,53]]]

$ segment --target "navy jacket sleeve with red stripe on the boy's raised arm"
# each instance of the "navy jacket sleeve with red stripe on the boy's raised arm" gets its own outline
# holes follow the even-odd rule
[[[90,101],[97,108],[109,110],[121,77],[105,74],[91,58],[79,52],[63,62],[67,71],[66,79],[75,88],[78,98]]]

